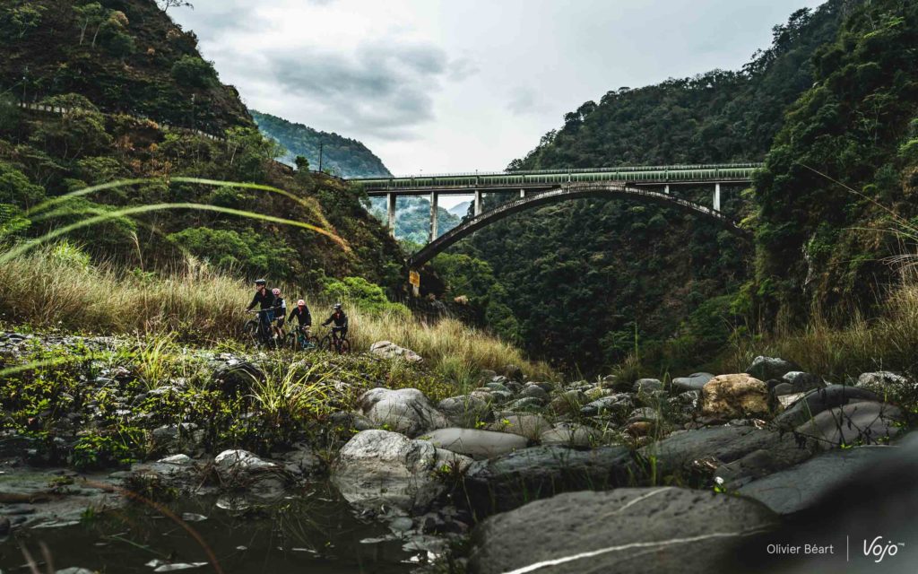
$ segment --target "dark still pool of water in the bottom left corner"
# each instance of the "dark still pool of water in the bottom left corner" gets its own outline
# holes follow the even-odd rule
[[[0,543],[0,571],[28,572],[21,546],[38,559],[40,543],[50,549],[54,568],[106,573],[150,574],[171,571],[163,565],[203,562],[186,571],[402,574],[427,556],[403,550],[407,541],[395,538],[384,524],[359,518],[329,485],[267,507],[245,508],[245,503],[217,496],[165,506],[185,520],[146,503],[132,503],[71,526],[20,529]],[[207,519],[200,520],[202,516]],[[214,560],[218,568],[211,566]]]

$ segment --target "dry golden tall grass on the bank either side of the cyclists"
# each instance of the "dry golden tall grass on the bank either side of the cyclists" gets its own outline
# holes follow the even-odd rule
[[[317,325],[332,301],[296,285],[280,286],[285,298],[305,298]],[[91,264],[67,243],[43,245],[0,265],[0,319],[39,330],[100,334],[170,334],[174,341],[219,343],[241,336],[252,286],[194,258],[162,275],[131,273],[114,264]],[[425,358],[452,380],[473,382],[480,369],[516,364],[531,377],[553,377],[543,363],[460,321],[419,321],[396,311],[367,312],[343,301],[356,351],[391,341]]]

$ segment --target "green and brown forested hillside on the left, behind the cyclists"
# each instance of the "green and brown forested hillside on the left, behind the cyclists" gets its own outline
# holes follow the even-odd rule
[[[194,34],[153,2],[10,2],[0,5],[0,26],[0,223],[6,242],[106,216],[101,225],[76,228],[66,238],[84,244],[97,260],[141,274],[172,268],[191,255],[244,276],[316,285],[325,276],[359,275],[392,289],[400,285],[397,243],[369,217],[359,193],[275,163],[283,149],[263,138],[235,91],[219,84],[196,51]],[[22,96],[58,110],[22,109]],[[268,185],[289,195],[177,181],[181,177]],[[125,179],[149,181],[44,204]],[[140,206],[160,207],[113,215]]]

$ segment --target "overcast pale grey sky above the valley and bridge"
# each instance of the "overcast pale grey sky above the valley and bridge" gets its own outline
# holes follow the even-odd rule
[[[193,0],[170,14],[259,111],[396,174],[502,170],[607,91],[738,69],[820,0]]]

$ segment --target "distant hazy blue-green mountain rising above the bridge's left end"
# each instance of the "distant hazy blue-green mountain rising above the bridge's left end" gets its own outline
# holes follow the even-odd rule
[[[270,114],[250,110],[262,133],[278,141],[286,149],[281,161],[294,165],[297,155],[305,157],[309,167],[319,169],[319,146],[322,169],[341,177],[373,177],[391,175],[383,162],[360,141],[337,133],[319,131]]]

